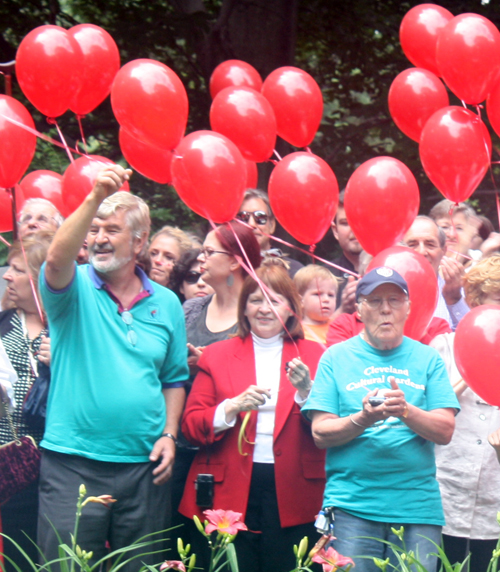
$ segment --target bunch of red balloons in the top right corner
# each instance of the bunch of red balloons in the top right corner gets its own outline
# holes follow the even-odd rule
[[[500,32],[478,14],[420,4],[403,18],[401,46],[417,66],[401,72],[389,91],[396,125],[420,144],[422,166],[441,193],[465,201],[491,161],[491,139],[480,117],[465,108],[487,99],[500,133]],[[449,105],[448,88],[464,107]]]

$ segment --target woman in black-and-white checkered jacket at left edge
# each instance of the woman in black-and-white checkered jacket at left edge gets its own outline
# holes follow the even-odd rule
[[[24,238],[22,245],[20,242],[12,245],[7,259],[9,268],[3,276],[7,282],[10,309],[0,312],[1,344],[18,378],[14,384],[16,408],[11,415],[12,422],[19,437],[31,435],[37,443],[43,437],[43,429],[27,425],[22,407],[35,377],[41,375],[42,368],[50,363],[47,325],[43,314],[40,315],[35,295],[38,297],[38,275],[52,237],[53,233],[39,231],[36,236]],[[9,421],[4,417],[0,420],[0,446],[13,439]],[[36,562],[38,481],[12,496],[0,511],[3,533]],[[26,569],[26,559],[9,540],[4,540],[3,552],[6,571]]]

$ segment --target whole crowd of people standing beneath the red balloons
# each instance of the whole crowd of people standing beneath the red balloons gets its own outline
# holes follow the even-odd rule
[[[271,246],[265,192],[247,190],[236,219],[203,238],[170,226],[150,237],[146,203],[118,190],[130,175],[101,171],[65,221],[44,199],[19,216],[0,342],[18,378],[12,419],[42,462],[39,481],[1,506],[3,533],[33,560],[28,537],[57,559],[84,483],[117,500],[83,513],[78,543],[93,562],[181,524],[174,535],[206,567],[193,516],[214,508],[242,513],[243,572],[292,570],[293,545],[322,532],[360,572],[378,569],[373,557],[397,567],[387,542],[403,540],[429,571],[443,542],[452,563],[470,554],[486,572],[500,415],[461,378],[453,339],[471,308],[500,305],[491,223],[441,201],[406,232],[439,288],[412,340],[403,330],[418,304],[395,270],[367,271],[343,193],[332,221],[341,255],[303,266]],[[45,428],[34,429],[22,405],[49,366]],[[0,445],[11,440],[3,418]],[[12,542],[4,555],[6,570],[23,569]]]

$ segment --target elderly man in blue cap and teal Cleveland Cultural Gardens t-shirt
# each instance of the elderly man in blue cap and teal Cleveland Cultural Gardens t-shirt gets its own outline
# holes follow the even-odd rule
[[[410,301],[400,274],[370,271],[356,300],[364,329],[325,352],[302,409],[317,446],[327,448],[323,506],[333,507],[333,546],[359,572],[378,570],[360,556],[397,567],[374,538],[401,545],[391,529],[403,525],[406,548],[435,570],[431,541],[440,543],[444,516],[434,443],[450,441],[458,401],[438,353],[403,335]]]

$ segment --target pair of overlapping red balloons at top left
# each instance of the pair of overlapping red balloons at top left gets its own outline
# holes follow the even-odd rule
[[[47,117],[68,109],[93,111],[109,94],[120,67],[113,38],[93,24],[69,30],[39,26],[27,34],[16,54],[16,76],[28,100]]]

